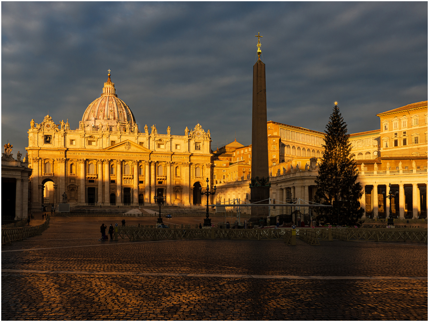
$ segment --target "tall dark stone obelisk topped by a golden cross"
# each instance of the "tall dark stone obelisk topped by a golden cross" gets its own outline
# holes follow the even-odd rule
[[[259,33],[257,43],[258,60],[253,66],[253,100],[252,100],[252,169],[250,183],[251,203],[268,204],[268,140],[267,140],[267,100],[265,85],[265,64],[261,61],[261,43]],[[265,200],[265,201],[262,201]],[[266,207],[253,207],[252,215],[266,213]],[[255,213],[256,211],[256,213]]]

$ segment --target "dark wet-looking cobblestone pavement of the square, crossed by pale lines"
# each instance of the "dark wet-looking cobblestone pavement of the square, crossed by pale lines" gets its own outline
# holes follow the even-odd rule
[[[41,236],[2,246],[2,319],[428,317],[427,244],[98,241],[102,222],[121,219],[53,217]]]

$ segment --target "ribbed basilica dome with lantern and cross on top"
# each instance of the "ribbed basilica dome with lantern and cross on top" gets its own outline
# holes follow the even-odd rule
[[[103,93],[85,110],[82,122],[80,122],[81,128],[84,126],[95,130],[116,131],[118,126],[125,128],[129,124],[130,128],[134,127],[136,119],[133,112],[115,93],[115,83],[110,79],[110,73],[107,76]],[[107,126],[110,128],[106,128]]]

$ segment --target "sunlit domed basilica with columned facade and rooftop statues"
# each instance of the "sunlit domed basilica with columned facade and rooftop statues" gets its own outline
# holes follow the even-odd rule
[[[110,72],[110,71],[109,71]],[[197,124],[185,135],[139,128],[108,74],[103,93],[86,108],[79,128],[49,115],[30,122],[31,209],[57,205],[139,205],[166,196],[168,204],[200,204],[211,178],[211,138]],[[193,192],[198,192],[194,194]]]

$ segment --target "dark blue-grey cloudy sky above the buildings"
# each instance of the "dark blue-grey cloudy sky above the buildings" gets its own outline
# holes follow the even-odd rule
[[[2,145],[27,146],[48,113],[77,128],[112,70],[143,128],[212,148],[251,143],[260,32],[267,118],[323,131],[333,102],[349,133],[427,100],[426,2],[2,2]]]

